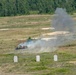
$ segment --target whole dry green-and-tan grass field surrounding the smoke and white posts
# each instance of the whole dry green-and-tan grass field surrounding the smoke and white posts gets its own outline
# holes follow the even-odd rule
[[[55,52],[18,53],[16,46],[26,41],[28,37],[38,37],[51,30],[42,31],[41,28],[51,26],[51,15],[28,15],[15,17],[1,17],[0,29],[0,71],[3,73],[31,74],[31,75],[76,75],[76,41],[71,45],[59,47]],[[22,52],[22,51],[21,51]],[[41,57],[36,62],[36,55]],[[53,56],[58,55],[58,61]],[[19,58],[13,62],[14,55]]]

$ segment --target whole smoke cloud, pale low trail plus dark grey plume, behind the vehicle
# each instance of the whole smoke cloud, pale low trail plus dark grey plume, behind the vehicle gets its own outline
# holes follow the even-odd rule
[[[59,46],[65,45],[66,43],[76,40],[76,27],[72,17],[67,14],[65,9],[57,8],[55,15],[52,19],[52,27],[54,32],[62,32],[61,34],[49,36],[49,40],[37,39],[35,42],[30,42],[27,52],[52,52],[55,51]],[[63,32],[68,32],[63,34]],[[51,39],[52,38],[52,39]],[[21,44],[26,45],[26,44]]]

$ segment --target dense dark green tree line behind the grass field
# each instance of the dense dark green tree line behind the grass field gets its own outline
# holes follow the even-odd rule
[[[0,0],[0,16],[52,14],[57,7],[76,12],[76,0]]]

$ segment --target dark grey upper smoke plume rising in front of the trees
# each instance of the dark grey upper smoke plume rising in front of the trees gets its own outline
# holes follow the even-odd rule
[[[55,31],[75,32],[75,22],[65,9],[57,8],[52,21]]]

